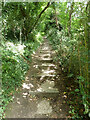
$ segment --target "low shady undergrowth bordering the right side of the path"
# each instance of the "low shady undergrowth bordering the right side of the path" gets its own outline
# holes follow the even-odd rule
[[[67,81],[67,89],[71,89],[69,91],[71,97],[69,102],[71,110],[69,113],[72,119],[88,119],[89,94],[85,86],[89,83],[86,81],[87,78],[84,68],[87,62],[87,50],[85,46],[80,46],[76,36],[73,35],[70,38],[65,35],[65,31],[62,30],[59,32],[55,28],[49,29],[47,39],[49,39],[50,44],[57,54],[54,61],[59,63],[62,72],[69,79]],[[80,75],[80,70],[83,73],[82,75]]]

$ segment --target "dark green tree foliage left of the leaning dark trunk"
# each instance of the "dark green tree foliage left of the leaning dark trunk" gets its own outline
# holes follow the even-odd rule
[[[2,5],[2,17],[3,17],[3,36],[8,39],[17,39],[19,41],[29,40],[33,34],[30,34],[30,30],[34,29],[33,25],[42,11],[42,5],[46,3],[27,3],[27,2],[9,2]],[[21,32],[21,33],[20,33]],[[21,38],[20,38],[21,37]],[[33,39],[34,40],[34,39]]]

